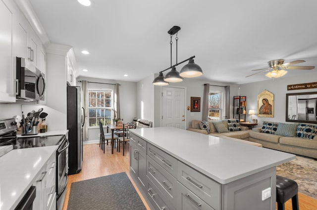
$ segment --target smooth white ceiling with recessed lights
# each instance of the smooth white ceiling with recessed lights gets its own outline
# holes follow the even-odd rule
[[[30,0],[50,41],[73,47],[76,75],[138,82],[159,73],[170,66],[167,31],[174,25],[181,27],[178,62],[195,55],[200,79],[268,80],[265,73],[246,76],[273,59],[317,66],[316,0],[92,1],[85,7],[77,0]],[[91,54],[81,54],[84,49]],[[310,71],[289,70],[284,77]]]

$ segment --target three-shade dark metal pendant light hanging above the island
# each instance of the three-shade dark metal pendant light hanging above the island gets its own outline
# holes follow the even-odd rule
[[[178,37],[177,37],[177,32],[180,30],[179,26],[173,26],[167,33],[170,35],[170,67],[168,67],[167,69],[160,71],[159,72],[159,76],[157,78],[154,79],[153,83],[154,85],[167,85],[169,84],[169,82],[171,83],[177,83],[177,82],[182,82],[183,81],[183,77],[187,77],[187,78],[193,78],[193,77],[199,77],[201,75],[203,75],[203,70],[202,68],[200,68],[200,66],[198,66],[197,64],[194,63],[194,59],[195,55],[182,61],[177,63],[177,41],[178,41]],[[176,34],[176,64],[172,65],[172,36]],[[186,64],[179,72],[176,71],[176,66],[178,66],[179,64],[182,64],[186,61],[188,61],[188,64]],[[166,74],[166,76],[163,76],[163,72],[166,70],[172,69],[170,72],[168,72]]]

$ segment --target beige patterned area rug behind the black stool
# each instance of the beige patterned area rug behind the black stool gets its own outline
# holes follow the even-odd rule
[[[277,175],[293,179],[298,191],[317,199],[317,161],[302,156],[276,167]]]

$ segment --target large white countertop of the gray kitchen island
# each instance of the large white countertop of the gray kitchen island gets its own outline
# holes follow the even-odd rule
[[[175,127],[130,131],[181,162],[226,184],[295,158],[295,155]]]

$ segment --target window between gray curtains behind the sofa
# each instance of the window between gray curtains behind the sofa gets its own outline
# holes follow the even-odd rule
[[[222,92],[209,92],[209,114],[208,120],[221,120],[222,114]]]

